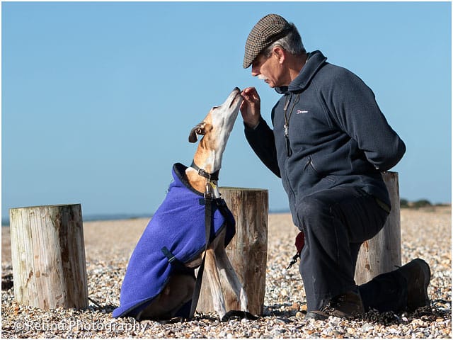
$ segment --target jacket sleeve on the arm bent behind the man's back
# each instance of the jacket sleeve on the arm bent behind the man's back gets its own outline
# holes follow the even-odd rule
[[[379,171],[395,166],[406,152],[403,140],[387,123],[371,89],[345,70],[330,87],[328,111],[334,122],[357,142]],[[329,105],[330,103],[330,105]]]

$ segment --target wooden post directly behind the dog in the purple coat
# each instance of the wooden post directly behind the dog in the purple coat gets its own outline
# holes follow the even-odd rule
[[[268,256],[268,191],[251,188],[219,188],[236,220],[236,235],[226,254],[248,297],[248,310],[263,314]],[[225,284],[222,285],[222,289]],[[226,311],[241,310],[231,289],[224,290]],[[198,312],[214,312],[209,285],[203,280]]]

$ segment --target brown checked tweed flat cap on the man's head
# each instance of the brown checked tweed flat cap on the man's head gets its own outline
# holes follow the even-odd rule
[[[278,14],[268,14],[261,18],[248,35],[246,52],[243,56],[243,68],[248,68],[261,51],[283,38],[291,29],[292,27],[285,18]]]

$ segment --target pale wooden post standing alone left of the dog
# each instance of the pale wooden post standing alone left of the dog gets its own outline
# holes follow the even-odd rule
[[[88,307],[81,205],[12,208],[14,296],[44,310]]]

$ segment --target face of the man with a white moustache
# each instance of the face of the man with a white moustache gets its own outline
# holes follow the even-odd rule
[[[272,52],[270,57],[263,54],[258,55],[252,63],[252,76],[262,79],[270,87],[282,86],[282,64],[278,55]]]

